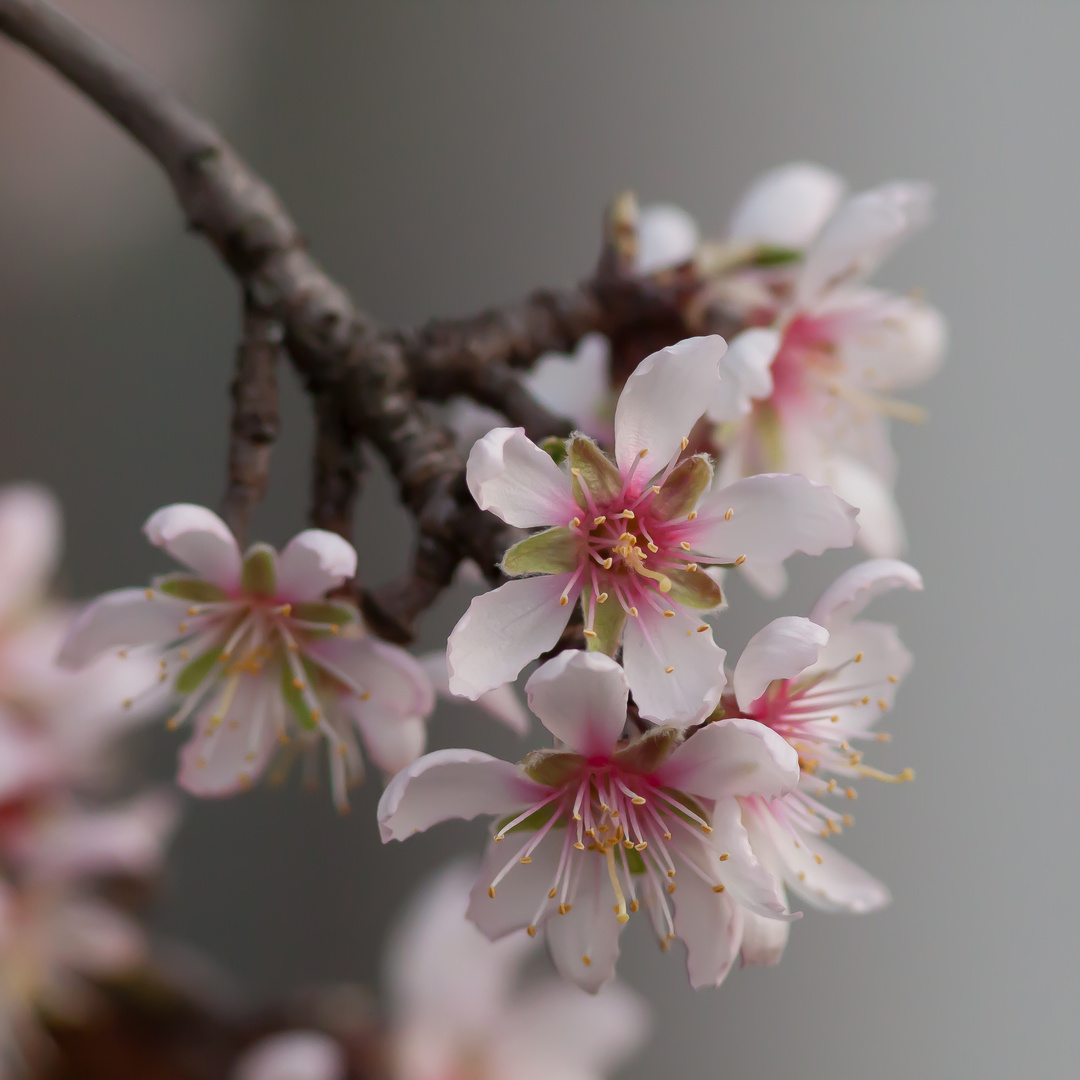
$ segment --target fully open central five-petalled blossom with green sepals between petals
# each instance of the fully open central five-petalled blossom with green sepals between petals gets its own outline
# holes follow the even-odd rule
[[[653,353],[626,381],[615,462],[583,435],[561,467],[519,428],[489,432],[469,456],[483,510],[546,526],[505,554],[507,582],[475,597],[447,648],[451,692],[476,699],[557,642],[580,599],[592,649],[620,644],[634,700],[650,720],[692,724],[716,705],[724,650],[700,612],[723,596],[704,568],[820,554],[855,535],[853,508],[802,476],[755,476],[711,489],[688,433],[718,390],[719,337]],[[674,676],[674,677],[673,677]]]

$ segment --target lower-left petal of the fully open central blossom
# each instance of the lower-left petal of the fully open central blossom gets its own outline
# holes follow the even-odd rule
[[[473,597],[446,646],[450,692],[475,701],[554,647],[581,591],[576,586],[569,603],[559,604],[570,578],[519,578]]]

